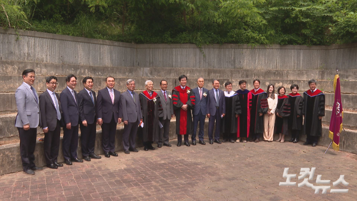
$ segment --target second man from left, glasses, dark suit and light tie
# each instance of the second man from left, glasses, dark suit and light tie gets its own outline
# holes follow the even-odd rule
[[[59,96],[54,92],[57,88],[57,78],[50,76],[46,79],[47,90],[40,95],[40,110],[42,129],[45,133],[44,151],[47,167],[57,169],[63,167],[57,163],[59,151],[59,135],[61,132],[62,109]]]

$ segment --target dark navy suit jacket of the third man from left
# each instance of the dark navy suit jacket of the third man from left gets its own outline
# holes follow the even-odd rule
[[[77,104],[78,96],[76,91],[74,91],[74,96],[77,102],[74,101],[74,98],[71,92],[69,91],[68,87],[66,87],[59,95],[64,126],[67,123],[71,123],[71,126],[78,125],[79,110]]]

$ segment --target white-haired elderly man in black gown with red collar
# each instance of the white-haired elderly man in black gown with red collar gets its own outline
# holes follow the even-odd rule
[[[145,151],[155,150],[155,148],[152,147],[152,143],[158,141],[160,131],[158,111],[162,110],[162,107],[160,97],[156,92],[152,91],[153,86],[153,82],[147,80],[145,82],[146,90],[139,94],[144,123],[142,127],[140,125],[140,130]]]

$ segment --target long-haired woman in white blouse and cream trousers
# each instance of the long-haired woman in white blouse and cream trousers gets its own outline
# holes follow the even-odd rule
[[[273,142],[274,125],[275,125],[275,110],[278,104],[278,94],[275,93],[274,85],[270,84],[266,90],[267,101],[269,105],[268,112],[264,114],[264,141]]]

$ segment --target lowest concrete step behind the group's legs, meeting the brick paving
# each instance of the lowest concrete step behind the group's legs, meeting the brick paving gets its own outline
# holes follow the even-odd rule
[[[176,139],[175,135],[175,121],[171,121],[170,125],[170,135],[169,139],[174,140]],[[123,151],[123,146],[122,146],[122,133],[123,133],[123,127],[117,129],[116,133],[116,139],[115,139],[115,147],[116,151]],[[344,150],[347,152],[351,153],[357,153],[357,145],[354,143],[357,141],[357,132],[354,130],[347,130],[343,131],[341,135],[341,147],[340,150]],[[306,136],[300,135],[301,136],[301,141],[305,142]],[[205,139],[208,139],[208,121],[205,123]],[[278,139],[279,136],[275,136],[275,140]],[[190,143],[191,143],[191,137]],[[290,136],[287,136],[286,139],[290,139]],[[327,147],[330,144],[331,140],[328,138],[328,128],[323,127],[322,128],[322,137],[319,140],[318,145],[320,146],[325,146]],[[175,144],[177,141],[170,142],[172,146],[176,146]],[[260,142],[264,143],[264,142]],[[288,143],[288,142],[286,142]],[[3,145],[0,146],[0,164],[2,164],[2,168],[0,168],[0,175],[3,174],[8,174],[16,171],[22,171],[22,163],[21,163],[21,157],[20,157],[20,147],[19,143],[17,144],[11,144],[11,145]],[[137,136],[136,140],[136,146],[141,147],[142,146],[142,140],[140,135]],[[202,145],[197,145],[197,146],[202,146]],[[210,146],[208,143],[206,143],[206,146]],[[224,146],[222,144],[221,146]],[[296,145],[296,146],[301,146],[301,145]],[[155,146],[156,147],[156,146]],[[159,149],[159,148],[156,148]],[[142,150],[140,150],[142,151]],[[157,151],[161,151],[160,149]],[[79,146],[78,146],[78,157],[81,157],[81,147],[80,147],[80,138],[79,138]],[[103,154],[102,150],[102,131],[97,131],[97,136],[96,136],[96,145],[95,145],[95,153],[96,154]],[[102,156],[104,157],[104,156]],[[119,155],[120,157],[120,155]],[[58,156],[58,163],[64,162],[63,158],[63,153],[62,153],[62,138],[60,139],[60,149],[59,149],[59,156]],[[44,152],[43,152],[43,142],[37,141],[36,143],[36,149],[35,149],[35,164],[37,166],[45,166],[45,158],[44,158]],[[74,164],[75,165],[75,164]]]

